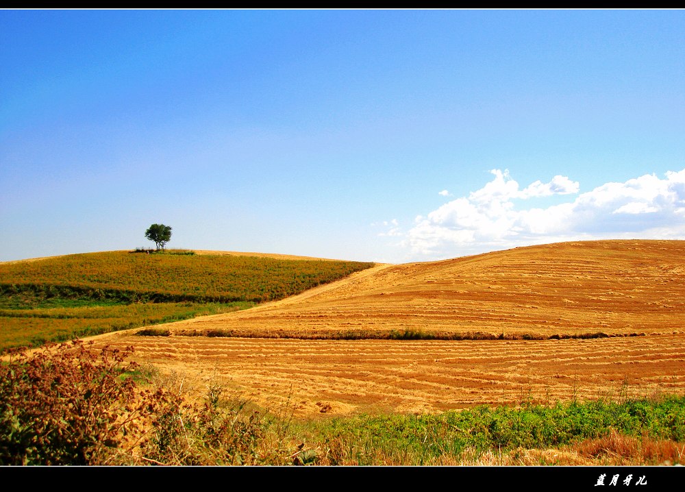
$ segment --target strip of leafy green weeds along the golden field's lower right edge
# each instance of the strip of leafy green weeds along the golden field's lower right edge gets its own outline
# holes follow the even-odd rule
[[[554,406],[479,406],[440,415],[362,415],[310,423],[331,464],[429,465],[451,456],[568,447],[615,432],[635,439],[685,441],[685,397]],[[682,450],[685,445],[680,445]],[[680,458],[680,456],[679,456]],[[680,463],[685,463],[685,456]],[[639,463],[647,464],[647,463]]]

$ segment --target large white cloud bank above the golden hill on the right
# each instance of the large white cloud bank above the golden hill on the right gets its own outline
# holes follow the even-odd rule
[[[575,194],[580,184],[556,175],[520,189],[508,170],[490,173],[493,180],[468,197],[416,217],[403,245],[444,258],[578,239],[685,238],[685,169],[606,183],[547,208],[525,208],[525,199]]]

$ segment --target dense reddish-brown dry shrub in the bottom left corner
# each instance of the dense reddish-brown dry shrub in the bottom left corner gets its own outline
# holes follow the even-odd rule
[[[132,352],[82,341],[18,352],[0,365],[0,464],[88,465],[141,432],[153,410],[132,378]]]

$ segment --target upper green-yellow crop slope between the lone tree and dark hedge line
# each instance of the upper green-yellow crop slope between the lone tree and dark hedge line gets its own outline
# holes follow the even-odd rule
[[[369,266],[362,262],[110,251],[1,264],[0,286],[60,293],[71,289],[75,295],[99,294],[125,301],[149,297],[262,302],[282,299]]]

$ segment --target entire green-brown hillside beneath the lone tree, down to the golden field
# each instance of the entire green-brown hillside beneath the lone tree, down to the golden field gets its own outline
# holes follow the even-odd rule
[[[112,251],[0,265],[0,353],[246,309],[373,263]]]

